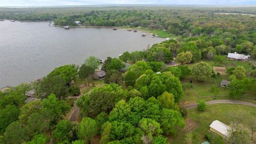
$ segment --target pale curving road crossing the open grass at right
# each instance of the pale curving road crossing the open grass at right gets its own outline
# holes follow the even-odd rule
[[[246,102],[246,101],[239,101],[239,100],[212,100],[212,101],[206,101],[205,103],[206,103],[206,105],[213,105],[213,104],[217,104],[217,103],[231,103],[231,104],[237,104],[237,105],[245,105],[245,106],[256,107],[255,103]],[[187,109],[195,108],[195,107],[197,107],[197,104],[187,105],[185,107]]]

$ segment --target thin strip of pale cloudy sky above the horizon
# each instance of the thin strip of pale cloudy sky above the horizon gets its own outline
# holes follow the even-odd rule
[[[0,6],[54,6],[105,4],[256,5],[256,0],[0,0]]]

